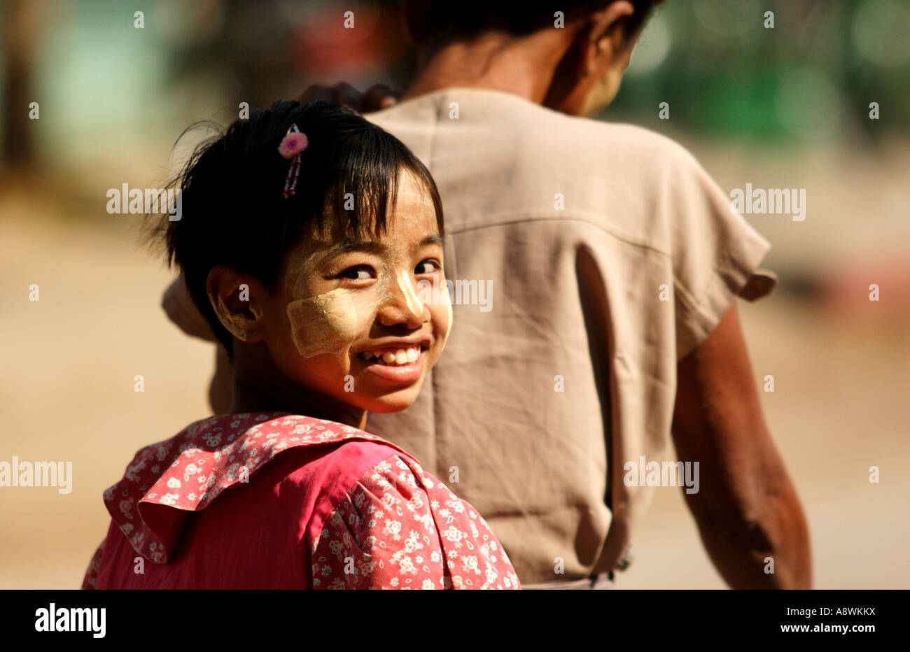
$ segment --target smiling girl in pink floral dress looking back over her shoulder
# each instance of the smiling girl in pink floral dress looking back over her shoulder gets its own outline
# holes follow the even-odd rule
[[[83,588],[520,588],[483,518],[362,430],[449,334],[418,293],[443,274],[427,168],[353,111],[279,102],[177,186],[169,262],[230,352],[232,414],[136,454]]]

